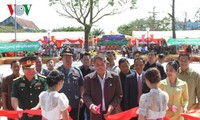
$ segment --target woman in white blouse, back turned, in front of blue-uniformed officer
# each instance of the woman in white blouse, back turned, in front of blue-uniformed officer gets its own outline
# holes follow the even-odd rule
[[[64,93],[58,93],[64,83],[63,73],[53,70],[47,76],[49,89],[39,95],[39,105],[44,120],[68,120],[69,100]]]

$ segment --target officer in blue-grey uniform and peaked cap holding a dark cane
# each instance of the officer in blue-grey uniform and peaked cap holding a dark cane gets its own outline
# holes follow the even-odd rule
[[[70,116],[73,120],[79,120],[79,109],[83,105],[83,76],[79,68],[73,67],[73,51],[66,47],[61,52],[63,65],[58,70],[64,73],[65,82],[60,90],[69,99],[69,105],[72,107]]]

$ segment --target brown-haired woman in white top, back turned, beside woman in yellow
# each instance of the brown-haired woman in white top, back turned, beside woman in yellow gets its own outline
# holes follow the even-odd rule
[[[159,89],[161,76],[157,68],[149,68],[145,73],[145,80],[151,89],[149,93],[140,97],[138,120],[162,120],[165,117],[169,96]]]

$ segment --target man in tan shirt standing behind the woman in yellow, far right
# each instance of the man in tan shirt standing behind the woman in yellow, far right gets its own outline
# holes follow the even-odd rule
[[[200,108],[200,75],[189,67],[190,56],[181,53],[179,59],[179,70],[177,77],[188,84],[189,103],[188,110]]]

